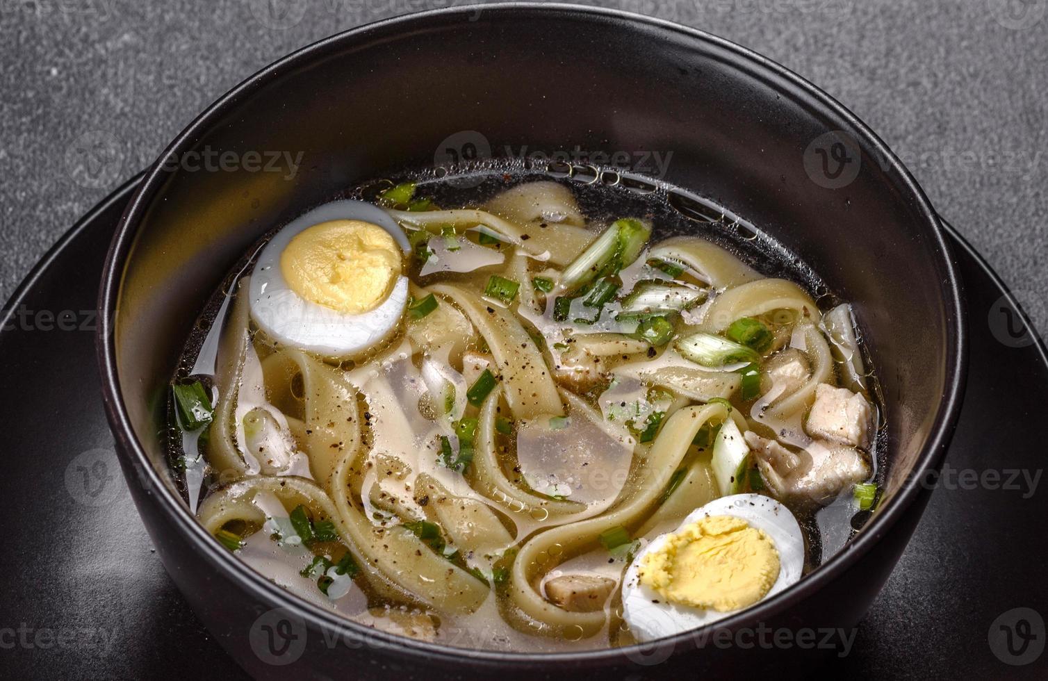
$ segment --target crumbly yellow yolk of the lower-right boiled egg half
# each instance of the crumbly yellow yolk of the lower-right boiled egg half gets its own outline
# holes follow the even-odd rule
[[[711,515],[671,534],[638,573],[672,603],[727,612],[767,595],[779,577],[779,552],[741,518]]]

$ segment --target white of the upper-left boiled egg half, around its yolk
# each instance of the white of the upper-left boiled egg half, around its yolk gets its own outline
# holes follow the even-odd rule
[[[403,229],[385,211],[364,201],[331,201],[309,211],[272,236],[252,273],[250,312],[259,328],[279,343],[328,357],[348,357],[383,340],[396,327],[408,304],[408,278],[375,309],[361,314],[339,312],[291,290],[280,268],[284,248],[299,233],[330,220],[363,220],[386,229],[405,255],[411,245]]]

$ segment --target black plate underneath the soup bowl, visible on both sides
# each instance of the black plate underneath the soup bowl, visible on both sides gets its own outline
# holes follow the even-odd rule
[[[102,408],[94,306],[135,178],[44,257],[0,315],[0,676],[243,678],[150,548]],[[943,475],[842,678],[1044,678],[1048,613],[1038,415],[1048,357],[1001,280],[947,228],[970,367]],[[1034,493],[1036,492],[1036,493]],[[246,635],[246,633],[245,633]]]

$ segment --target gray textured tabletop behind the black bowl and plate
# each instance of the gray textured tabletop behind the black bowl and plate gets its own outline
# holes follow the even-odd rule
[[[0,301],[78,217],[252,72],[337,30],[453,2],[0,0]],[[717,34],[836,96],[1048,329],[1048,0],[598,4]],[[83,149],[100,144],[110,156],[91,166]]]

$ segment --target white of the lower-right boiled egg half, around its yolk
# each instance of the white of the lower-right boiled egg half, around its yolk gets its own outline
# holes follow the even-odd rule
[[[774,545],[779,551],[779,577],[765,598],[776,595],[801,578],[804,570],[804,534],[793,514],[778,501],[763,495],[721,497],[692,511],[674,531],[708,515],[740,518],[749,523],[750,527],[764,531]],[[664,546],[671,532],[667,532],[652,540],[633,559],[623,580],[623,617],[638,641],[651,641],[698,629],[740,612],[718,612],[670,603],[662,595],[640,584],[637,572],[643,557]]]

